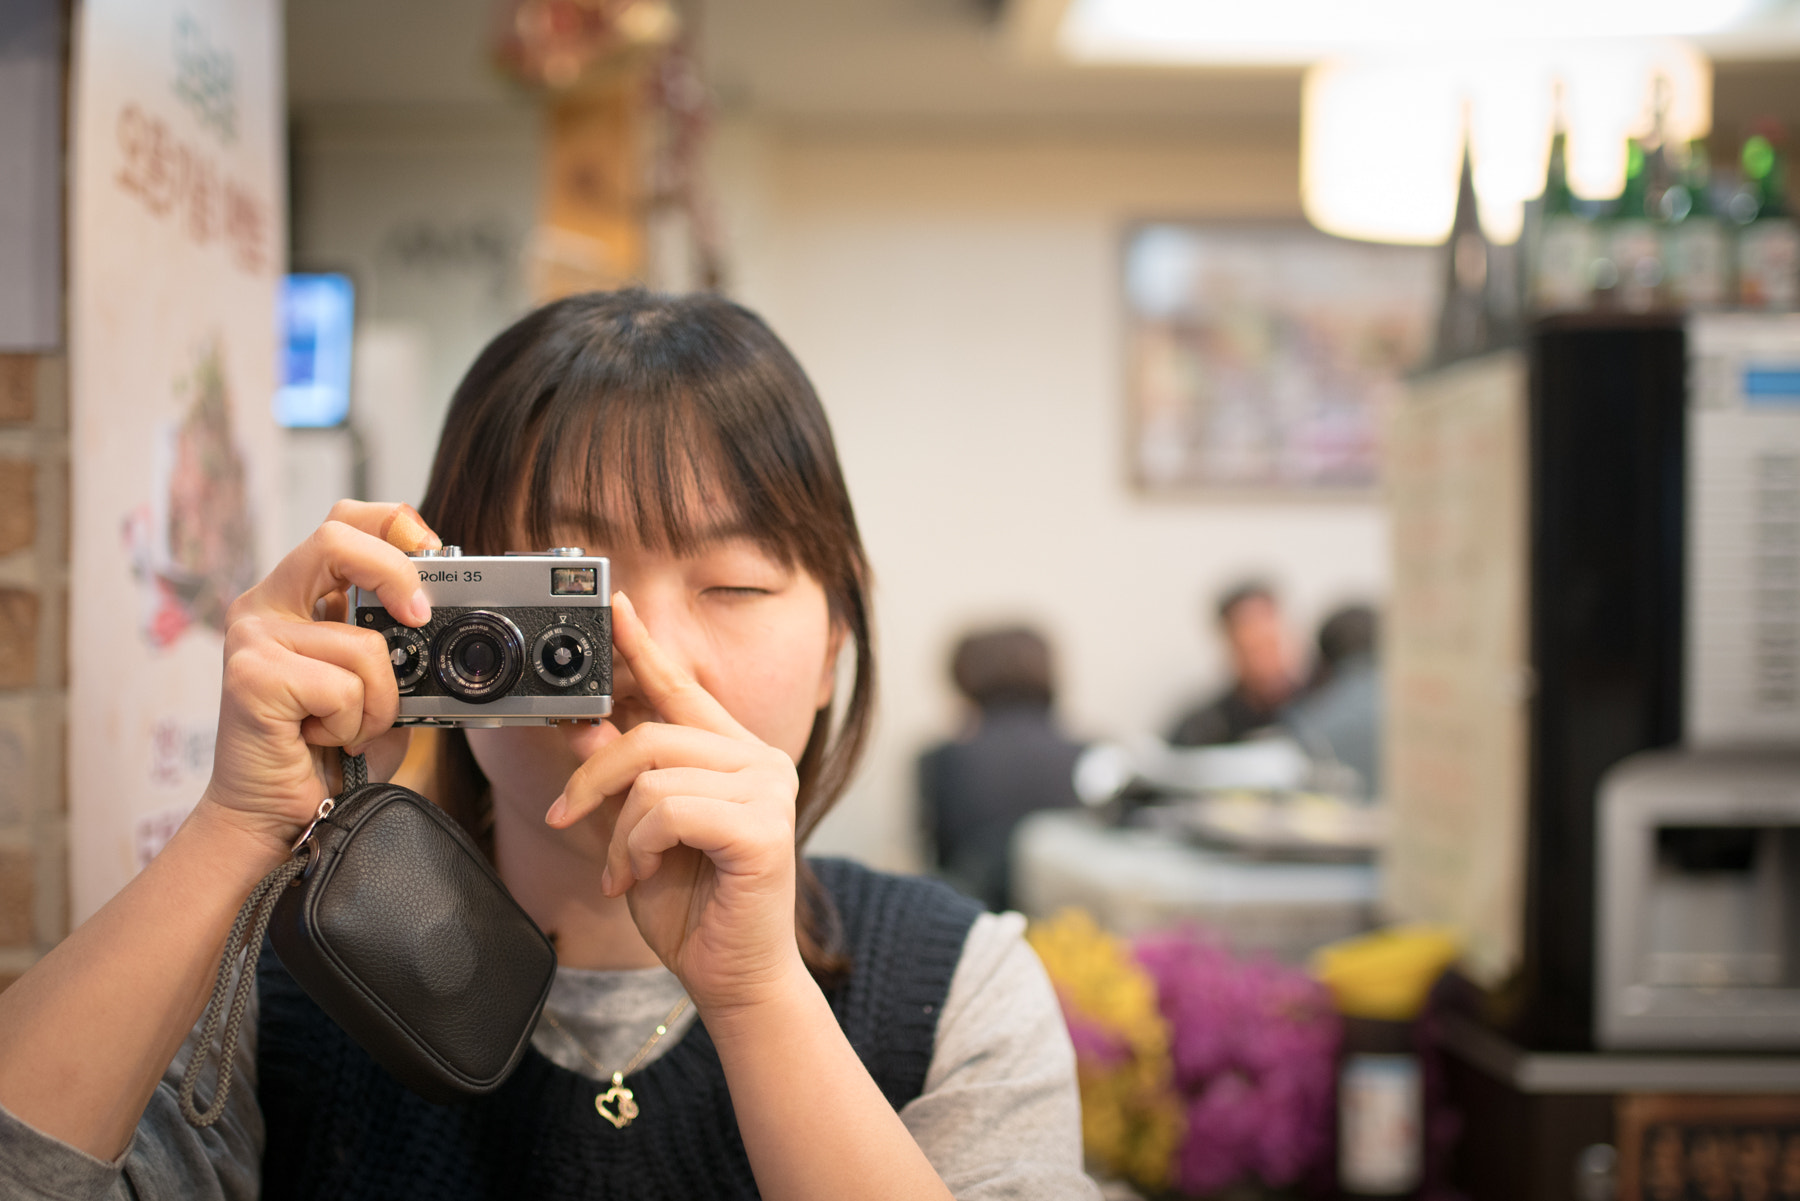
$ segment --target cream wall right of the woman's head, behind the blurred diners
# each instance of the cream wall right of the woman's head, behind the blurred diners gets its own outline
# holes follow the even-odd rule
[[[1217,681],[1202,609],[1238,576],[1276,580],[1301,637],[1381,594],[1373,502],[1127,483],[1125,223],[1298,216],[1294,162],[1193,137],[724,130],[734,292],[812,373],[877,573],[880,729],[815,850],[916,864],[911,763],[954,724],[945,661],[970,623],[1042,623],[1067,724],[1109,735]]]

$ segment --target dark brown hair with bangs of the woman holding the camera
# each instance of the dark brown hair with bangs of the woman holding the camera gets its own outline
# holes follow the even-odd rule
[[[869,736],[875,657],[868,560],[837,447],[812,382],[767,324],[709,293],[634,288],[567,297],[522,317],[463,376],[419,513],[446,544],[500,555],[625,533],[677,555],[716,529],[799,565],[857,657],[832,722],[817,713],[799,758],[796,844],[842,792]],[[468,738],[446,731],[437,801],[493,855],[493,805]],[[835,915],[797,864],[796,927],[815,976],[846,969]]]

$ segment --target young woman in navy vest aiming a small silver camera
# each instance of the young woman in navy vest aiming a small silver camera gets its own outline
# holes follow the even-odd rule
[[[448,733],[434,772],[556,942],[535,1050],[499,1093],[430,1106],[265,954],[225,1116],[180,1118],[238,906],[335,789],[337,747],[376,776],[405,749],[385,645],[333,618],[351,583],[414,625],[428,607],[378,537],[396,506],[342,502],[232,607],[193,816],[0,994],[0,1192],[1096,1196],[1021,920],[799,857],[868,731],[868,567],[824,412],[767,326],[643,292],[531,313],[459,387],[421,508],[466,553],[608,555],[619,589],[612,720]],[[625,1125],[596,1107],[614,1071]]]

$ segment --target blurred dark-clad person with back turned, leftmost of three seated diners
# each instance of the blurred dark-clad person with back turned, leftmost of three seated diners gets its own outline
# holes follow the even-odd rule
[[[1082,747],[1057,729],[1049,643],[1037,630],[965,636],[950,679],[970,702],[968,724],[920,756],[920,816],[938,875],[999,913],[1012,906],[1013,826],[1078,803],[1071,778]]]

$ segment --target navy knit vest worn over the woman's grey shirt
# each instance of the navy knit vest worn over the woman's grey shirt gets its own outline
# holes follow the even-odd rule
[[[932,880],[814,861],[842,924],[850,978],[832,1012],[898,1109],[920,1095],[938,1012],[981,911]],[[257,963],[263,1197],[754,1197],[725,1071],[706,1026],[630,1086],[644,1116],[614,1129],[594,1080],[536,1050],[499,1091],[432,1106],[401,1088],[301,992],[266,945]]]

